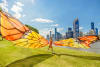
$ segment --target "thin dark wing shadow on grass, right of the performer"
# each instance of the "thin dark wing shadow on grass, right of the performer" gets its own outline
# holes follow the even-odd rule
[[[79,56],[79,55],[57,54],[57,53],[55,53],[55,55],[57,55],[57,56],[65,55],[65,56],[72,56],[72,57],[83,58],[83,59],[88,59],[88,60],[98,60],[98,61],[100,61],[100,57],[96,57],[96,56]]]

